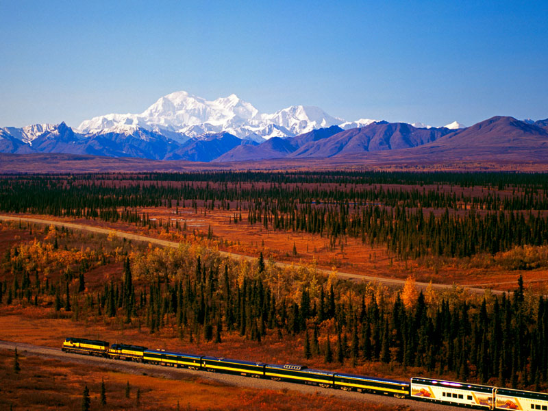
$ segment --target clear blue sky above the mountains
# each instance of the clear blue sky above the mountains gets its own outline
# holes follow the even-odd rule
[[[0,126],[186,90],[262,112],[471,125],[548,117],[548,1],[0,0]]]

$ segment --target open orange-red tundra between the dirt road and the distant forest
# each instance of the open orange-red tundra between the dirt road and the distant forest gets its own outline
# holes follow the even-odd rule
[[[172,228],[166,232],[165,229],[149,229],[123,222],[107,223],[101,220],[63,219],[31,214],[21,216],[118,229],[164,240],[199,242],[214,249],[247,256],[258,256],[262,251],[264,258],[272,258],[277,262],[314,263],[322,269],[372,277],[406,279],[413,275],[417,282],[478,285],[508,291],[516,288],[517,278],[523,275],[525,284],[529,284],[533,290],[548,292],[548,269],[507,270],[498,266],[474,268],[466,267],[466,264],[463,268],[462,260],[442,258],[401,261],[390,256],[384,245],[371,247],[363,245],[355,238],[345,238],[343,247],[337,242],[334,249],[329,249],[327,238],[319,235],[274,231],[271,228],[264,229],[259,223],[250,225],[247,223],[247,212],[242,212],[242,222],[236,224],[232,221],[235,212],[232,210],[205,210],[204,213],[203,208],[199,208],[198,212],[192,208],[179,208],[179,214],[175,214],[173,208],[145,208],[138,211],[140,214],[148,213],[155,221],[162,219],[163,222],[171,221],[173,225],[175,220],[180,225],[186,222],[187,230],[182,232]],[[212,240],[206,238],[208,227],[213,230]],[[293,256],[293,245],[297,249],[297,256]]]

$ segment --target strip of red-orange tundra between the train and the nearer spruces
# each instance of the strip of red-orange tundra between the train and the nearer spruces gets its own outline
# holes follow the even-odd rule
[[[335,370],[373,377],[384,377],[406,380],[413,375],[440,377],[435,372],[426,373],[424,369],[408,367],[403,369],[396,364],[382,362],[365,362],[353,366],[350,360],[344,364],[326,363],[323,356],[314,356],[307,360],[303,351],[303,338],[284,334],[279,339],[275,333],[269,333],[260,343],[241,338],[237,333],[223,334],[222,343],[206,342],[201,336],[194,336],[192,343],[188,334],[179,338],[175,327],[166,325],[160,332],[149,334],[148,329],[124,325],[122,319],[111,323],[101,321],[76,322],[71,319],[55,319],[45,315],[40,308],[20,307],[0,309],[0,340],[8,340],[45,347],[60,347],[65,337],[94,338],[109,343],[131,343],[144,345],[151,349],[167,349],[197,355],[236,358],[239,360],[256,360],[269,364],[303,364],[309,368]],[[331,346],[336,350],[336,340],[331,332]],[[327,332],[320,334],[320,347],[324,347]],[[449,377],[445,375],[445,378]]]

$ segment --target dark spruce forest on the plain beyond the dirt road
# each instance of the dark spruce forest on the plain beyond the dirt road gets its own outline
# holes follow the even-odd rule
[[[460,196],[438,186],[384,188],[362,184],[373,176],[381,181],[421,184],[434,177],[415,173],[190,173],[79,176],[23,176],[0,179],[0,210],[71,216],[76,218],[126,221],[149,227],[182,231],[179,221],[151,221],[138,208],[192,207],[205,210],[233,210],[234,223],[262,224],[265,229],[307,232],[325,237],[328,247],[343,244],[345,236],[360,238],[369,245],[386,245],[393,255],[407,259],[421,256],[469,257],[476,253],[497,253],[523,245],[545,245],[548,209],[543,175],[508,173],[443,173],[440,180],[451,184],[471,181],[514,184],[514,195],[496,190]],[[149,182],[152,176],[158,177]],[[110,177],[110,180],[106,180]],[[245,178],[248,180],[245,180]],[[126,176],[126,178],[129,178]],[[216,178],[209,182],[206,178]],[[262,178],[262,179],[261,179]],[[498,178],[498,180],[497,180]],[[202,179],[199,181],[198,179]],[[228,181],[230,180],[230,181]],[[274,180],[274,181],[273,181]],[[147,182],[144,184],[143,182]],[[242,184],[242,182],[244,184]],[[293,184],[294,182],[313,185]],[[339,182],[336,186],[325,186]],[[519,184],[530,183],[530,186]],[[150,183],[150,184],[148,184]],[[468,183],[466,183],[468,184]],[[438,212],[440,210],[441,212]],[[208,238],[212,238],[210,230]]]

